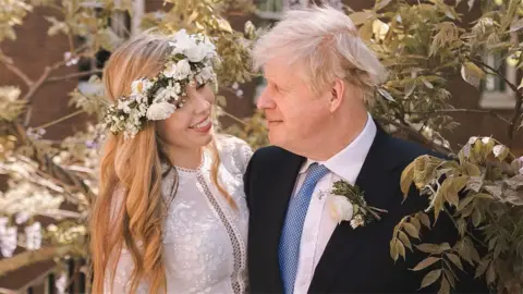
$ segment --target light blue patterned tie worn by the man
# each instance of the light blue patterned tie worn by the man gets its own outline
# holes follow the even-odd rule
[[[318,166],[317,163],[311,164],[302,187],[296,195],[291,197],[289,203],[278,252],[281,279],[283,280],[285,294],[294,291],[303,222],[305,221],[314,187],[328,172],[329,170],[325,166]]]

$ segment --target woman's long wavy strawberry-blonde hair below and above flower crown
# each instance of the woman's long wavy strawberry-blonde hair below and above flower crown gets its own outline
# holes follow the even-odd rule
[[[134,79],[156,76],[171,50],[169,36],[151,32],[118,48],[104,71],[109,99],[115,101],[129,95]],[[108,134],[100,162],[99,194],[89,223],[94,293],[104,293],[107,274],[112,283],[122,248],[129,250],[134,261],[131,293],[136,292],[141,281],[147,282],[150,293],[167,291],[161,246],[166,204],[170,203],[161,195],[161,162],[168,160],[162,151],[165,147],[157,137],[154,122],[133,139]],[[235,208],[230,195],[218,183],[220,158],[215,140],[210,147],[212,182]]]

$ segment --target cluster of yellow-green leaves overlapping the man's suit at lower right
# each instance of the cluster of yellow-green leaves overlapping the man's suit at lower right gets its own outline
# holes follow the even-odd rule
[[[520,266],[523,261],[521,168],[521,161],[510,154],[509,148],[490,137],[471,138],[455,160],[418,157],[402,173],[402,192],[406,197],[411,183],[414,183],[428,197],[430,205],[425,212],[405,217],[396,226],[391,242],[392,258],[397,259],[398,253],[404,253],[402,245],[411,248],[403,231],[411,237],[419,238],[421,223],[430,228],[426,213],[433,213],[435,223],[440,213],[445,213],[454,222],[460,238],[452,247],[449,244],[416,246],[430,256],[413,270],[425,270],[438,261],[449,272],[438,278],[429,272],[423,285],[439,279],[441,289],[448,289],[447,283],[453,289],[451,277],[455,275],[455,270],[463,270],[463,260],[474,266],[476,277],[485,275],[498,293],[519,289],[523,283]],[[487,249],[478,254],[477,247]],[[402,256],[405,257],[404,254]]]

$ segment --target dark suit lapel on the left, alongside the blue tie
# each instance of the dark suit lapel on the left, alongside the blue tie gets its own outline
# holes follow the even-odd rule
[[[283,228],[283,221],[285,219],[287,209],[289,206],[289,199],[294,191],[294,185],[297,179],[297,173],[301,166],[305,161],[305,158],[297,155],[284,151],[281,160],[278,164],[279,170],[275,170],[275,167],[268,167],[266,171],[269,173],[267,179],[270,179],[267,182],[268,193],[263,195],[267,197],[267,201],[264,206],[264,226],[266,232],[263,234],[264,237],[259,240],[264,243],[264,246],[268,253],[267,258],[269,258],[270,268],[266,269],[271,271],[271,282],[275,283],[271,289],[278,289],[277,292],[283,292],[283,282],[280,277],[280,266],[278,260],[278,248],[280,243],[281,230]]]

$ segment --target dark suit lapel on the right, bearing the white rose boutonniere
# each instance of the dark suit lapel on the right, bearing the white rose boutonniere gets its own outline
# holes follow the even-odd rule
[[[387,209],[390,204],[391,191],[396,181],[388,176],[388,167],[390,167],[390,155],[387,154],[387,140],[389,135],[379,126],[376,137],[370,146],[365,162],[356,180],[356,186],[364,192],[368,205]],[[379,184],[377,184],[379,183]],[[370,236],[374,225],[352,229],[350,222],[340,223],[325,248],[325,252],[316,267],[309,292],[325,293],[337,278],[340,269],[346,265],[353,254],[365,242],[372,242]]]

